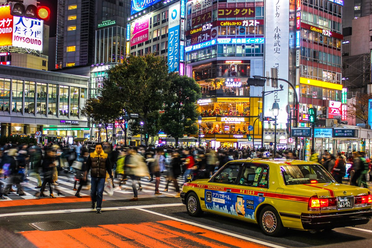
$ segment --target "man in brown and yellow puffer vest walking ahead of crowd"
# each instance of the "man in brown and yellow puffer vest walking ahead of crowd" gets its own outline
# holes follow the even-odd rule
[[[90,192],[90,197],[92,198],[92,209],[95,208],[97,213],[101,213],[106,172],[109,174],[110,178],[112,178],[110,160],[108,154],[103,151],[102,144],[97,144],[95,151],[88,157],[86,171],[84,173],[84,181],[86,181],[86,176],[89,170],[92,184]]]

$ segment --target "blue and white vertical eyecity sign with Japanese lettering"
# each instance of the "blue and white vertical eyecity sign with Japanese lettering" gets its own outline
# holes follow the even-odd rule
[[[180,2],[169,6],[168,69],[170,72],[180,68]]]

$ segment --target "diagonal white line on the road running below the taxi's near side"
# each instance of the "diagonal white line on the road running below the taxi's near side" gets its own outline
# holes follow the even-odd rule
[[[270,244],[270,243],[267,243],[267,242],[264,242],[264,241],[260,241],[260,240],[257,240],[257,239],[248,238],[246,236],[242,236],[242,235],[235,234],[235,233],[232,233],[232,232],[227,232],[227,231],[220,230],[220,229],[217,229],[217,228],[213,228],[213,227],[210,227],[210,226],[202,225],[202,224],[199,224],[199,223],[194,223],[194,222],[191,222],[191,221],[188,221],[188,220],[183,220],[183,219],[179,219],[179,218],[174,218],[172,216],[163,215],[161,213],[153,212],[153,211],[150,211],[150,210],[147,210],[147,209],[141,208],[141,209],[138,209],[138,210],[141,210],[141,211],[144,211],[144,212],[147,212],[147,213],[152,213],[153,215],[158,215],[158,216],[161,216],[161,217],[164,217],[164,218],[168,218],[168,219],[172,219],[172,220],[177,220],[179,222],[183,222],[183,223],[186,223],[186,224],[189,224],[189,225],[193,225],[193,226],[198,226],[198,227],[201,227],[201,228],[205,228],[205,229],[208,229],[208,230],[211,230],[211,231],[223,233],[223,234],[226,234],[226,235],[233,236],[235,238],[244,239],[244,240],[251,241],[251,242],[254,242],[254,243],[257,243],[257,244],[267,245],[267,246],[273,247],[273,248],[285,248],[285,247],[280,246],[280,245]]]

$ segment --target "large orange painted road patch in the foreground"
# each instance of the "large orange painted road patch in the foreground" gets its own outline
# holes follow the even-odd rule
[[[164,220],[139,224],[86,226],[61,231],[21,232],[40,248],[264,248],[204,228]]]

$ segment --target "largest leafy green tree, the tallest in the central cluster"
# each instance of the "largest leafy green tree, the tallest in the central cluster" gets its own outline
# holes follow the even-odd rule
[[[110,68],[106,73],[102,96],[109,97],[113,103],[120,102],[126,112],[143,117],[144,134],[148,134],[149,114],[162,109],[170,85],[165,58],[154,54],[130,55],[123,64]],[[145,144],[148,144],[148,138]]]

